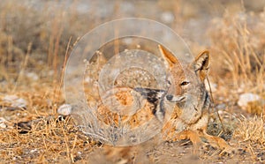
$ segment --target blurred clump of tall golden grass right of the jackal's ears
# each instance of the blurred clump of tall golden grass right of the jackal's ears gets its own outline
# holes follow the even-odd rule
[[[209,29],[214,71],[231,78],[233,84],[264,89],[265,11],[260,14],[225,12],[213,19]]]

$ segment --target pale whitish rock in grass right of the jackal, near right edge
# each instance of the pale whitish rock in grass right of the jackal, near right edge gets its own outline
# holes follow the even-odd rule
[[[246,109],[247,104],[253,101],[260,101],[261,97],[254,93],[243,93],[239,95],[239,107]]]

